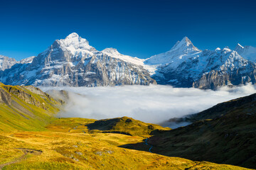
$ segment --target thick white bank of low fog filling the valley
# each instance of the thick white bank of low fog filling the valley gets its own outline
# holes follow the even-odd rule
[[[114,87],[41,87],[65,90],[70,100],[58,116],[79,118],[132,117],[146,123],[161,124],[170,118],[198,113],[217,103],[256,93],[252,84],[218,91],[172,86],[114,86]],[[80,94],[80,95],[79,95]]]

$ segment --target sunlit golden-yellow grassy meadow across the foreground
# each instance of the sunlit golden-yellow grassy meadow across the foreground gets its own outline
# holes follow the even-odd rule
[[[15,161],[24,154],[21,148],[26,148],[40,154],[28,152],[3,169],[243,169],[124,149],[118,146],[144,142],[146,136],[90,132],[85,125],[94,122],[60,118],[45,131],[1,133],[0,164]]]

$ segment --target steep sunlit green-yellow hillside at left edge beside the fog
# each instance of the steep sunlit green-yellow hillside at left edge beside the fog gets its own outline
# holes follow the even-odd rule
[[[0,132],[45,130],[61,104],[33,86],[0,84]]]

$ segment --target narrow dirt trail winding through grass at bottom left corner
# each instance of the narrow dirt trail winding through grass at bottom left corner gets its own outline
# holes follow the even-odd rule
[[[4,166],[10,165],[10,164],[15,164],[15,163],[25,160],[27,154],[39,155],[42,153],[41,150],[26,149],[26,148],[15,148],[15,149],[20,149],[23,152],[23,155],[21,155],[21,157],[14,159],[14,161],[12,161],[12,162],[6,162],[4,164],[0,164],[0,169],[4,168]]]

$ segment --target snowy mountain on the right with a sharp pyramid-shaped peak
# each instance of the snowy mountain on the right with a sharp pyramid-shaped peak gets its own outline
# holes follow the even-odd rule
[[[252,52],[253,47],[247,48],[250,50],[236,47],[237,52],[225,47],[222,50],[201,51],[185,37],[181,42],[176,42],[169,52],[154,55],[144,63],[156,66],[156,72],[151,77],[158,84],[200,89],[248,82],[255,84],[255,61],[252,56],[256,55]]]

